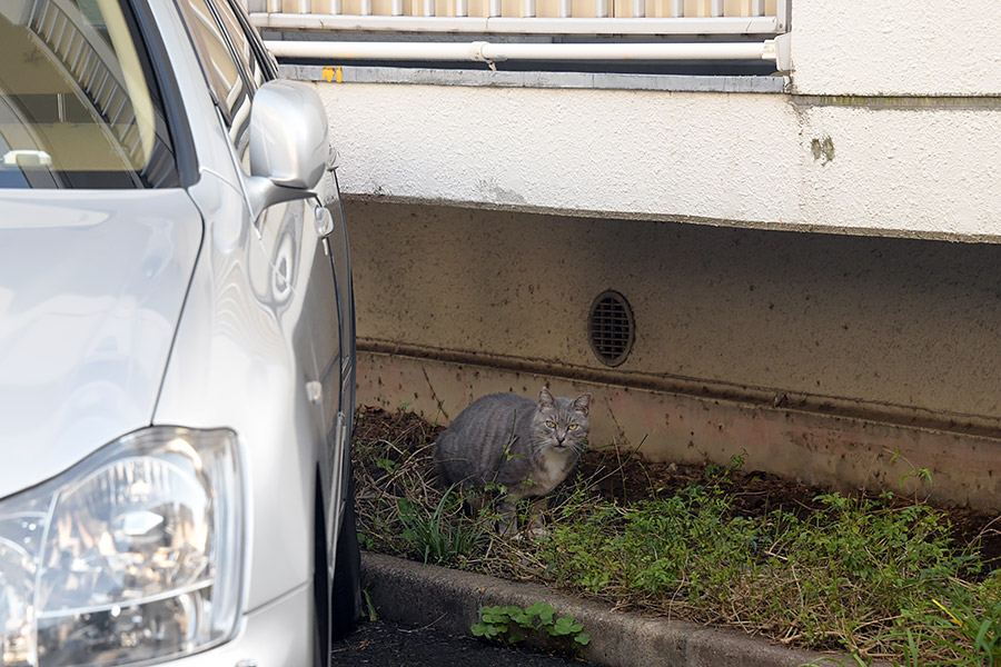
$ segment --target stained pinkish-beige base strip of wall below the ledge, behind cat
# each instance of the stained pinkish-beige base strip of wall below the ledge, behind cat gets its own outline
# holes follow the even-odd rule
[[[533,371],[534,370],[534,371]],[[752,405],[559,377],[558,368],[513,370],[407,355],[358,352],[358,405],[407,409],[447,425],[493,391],[594,395],[591,444],[636,448],[653,461],[764,470],[851,492],[882,489],[942,505],[998,511],[1001,440],[916,425],[886,424],[792,407]],[[915,474],[926,469],[929,485]]]

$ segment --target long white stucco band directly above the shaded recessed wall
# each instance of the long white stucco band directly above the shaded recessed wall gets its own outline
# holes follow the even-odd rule
[[[1001,109],[317,86],[348,193],[1001,240]]]

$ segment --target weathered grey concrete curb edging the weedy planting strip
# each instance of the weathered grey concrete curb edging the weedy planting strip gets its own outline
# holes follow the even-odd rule
[[[584,624],[591,644],[583,657],[608,667],[799,667],[823,658],[827,660],[819,665],[854,664],[845,655],[790,649],[734,630],[611,611],[596,601],[544,586],[392,556],[363,552],[361,578],[380,618],[457,635],[470,634],[469,626],[478,620],[477,610],[484,605],[527,607],[543,600]]]

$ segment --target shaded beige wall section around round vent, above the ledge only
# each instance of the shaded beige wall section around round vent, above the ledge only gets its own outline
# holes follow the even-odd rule
[[[623,293],[616,371],[1001,419],[1001,247],[353,202],[358,335],[606,369],[586,318]]]

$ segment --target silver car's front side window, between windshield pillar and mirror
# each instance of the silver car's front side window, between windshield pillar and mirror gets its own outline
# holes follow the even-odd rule
[[[207,0],[178,0],[178,4],[188,24],[212,98],[229,131],[229,139],[236,148],[237,157],[246,165],[250,142],[251,84],[230,52],[222,28],[216,21]],[[246,38],[244,46],[249,49]],[[235,44],[234,48],[239,49],[240,46]]]

